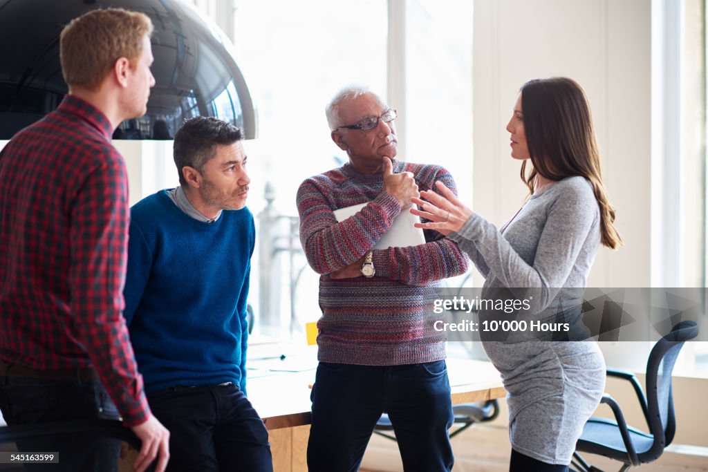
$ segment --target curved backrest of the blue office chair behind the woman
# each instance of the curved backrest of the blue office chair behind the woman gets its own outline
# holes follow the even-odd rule
[[[649,354],[649,362],[646,364],[646,420],[654,442],[648,451],[638,454],[641,462],[658,459],[663,449],[673,441],[676,418],[671,373],[683,343],[697,335],[698,326],[694,321],[682,321],[658,340]]]

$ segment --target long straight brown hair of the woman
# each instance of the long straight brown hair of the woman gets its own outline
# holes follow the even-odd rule
[[[615,209],[607,200],[600,171],[590,106],[583,88],[566,77],[528,81],[521,87],[521,111],[530,160],[521,180],[534,191],[536,175],[561,180],[582,175],[593,186],[600,207],[600,236],[604,246],[616,249],[622,238],[615,229]]]

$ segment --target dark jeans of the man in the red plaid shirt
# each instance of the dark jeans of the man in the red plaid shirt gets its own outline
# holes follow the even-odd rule
[[[98,381],[36,379],[0,372],[0,410],[8,425],[117,420],[118,410]],[[95,434],[56,434],[17,443],[23,452],[58,452],[59,464],[25,464],[25,471],[113,472],[120,440]]]

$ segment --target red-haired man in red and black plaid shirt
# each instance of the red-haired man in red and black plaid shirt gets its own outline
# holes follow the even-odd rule
[[[139,472],[155,457],[164,470],[169,432],[121,313],[127,173],[111,136],[147,110],[151,34],[122,9],[74,19],[60,40],[69,94],[0,152],[0,409],[8,425],[120,416],[142,439]]]

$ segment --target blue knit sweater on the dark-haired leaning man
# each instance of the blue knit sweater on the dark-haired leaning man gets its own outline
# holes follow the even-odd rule
[[[124,316],[145,390],[230,381],[245,393],[251,212],[204,223],[161,190],[130,216]]]

